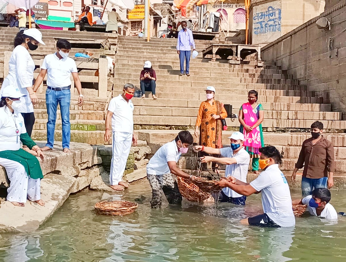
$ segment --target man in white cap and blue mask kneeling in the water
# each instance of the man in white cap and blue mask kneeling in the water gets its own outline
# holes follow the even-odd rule
[[[211,148],[204,146],[195,146],[194,149],[206,152],[207,154],[221,155],[222,157],[201,157],[201,163],[210,161],[226,165],[226,177],[233,176],[237,180],[246,183],[247,171],[250,163],[250,155],[244,149],[244,135],[240,132],[234,132],[230,137],[231,146],[224,148]],[[237,205],[245,205],[246,196],[225,187],[221,191],[220,201],[229,202]]]

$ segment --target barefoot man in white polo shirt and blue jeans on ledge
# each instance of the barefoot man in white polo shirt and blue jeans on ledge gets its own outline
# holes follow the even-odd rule
[[[46,105],[48,113],[47,143],[42,150],[52,150],[54,145],[54,130],[56,122],[56,110],[60,105],[62,121],[62,146],[65,153],[70,152],[71,124],[70,124],[70,101],[71,101],[71,74],[74,86],[77,88],[79,98],[78,105],[83,104],[82,85],[78,77],[76,63],[69,58],[71,44],[65,39],[56,42],[57,52],[46,55],[41,71],[35,81],[34,92],[38,89],[47,73]]]

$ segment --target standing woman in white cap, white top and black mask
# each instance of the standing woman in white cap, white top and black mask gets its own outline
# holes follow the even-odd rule
[[[37,103],[37,96],[33,91],[35,63],[28,50],[36,50],[39,43],[44,45],[42,34],[36,28],[21,30],[17,33],[14,41],[15,48],[9,61],[9,72],[2,83],[3,87],[8,85],[18,87],[20,93],[26,95],[20,98],[22,106],[18,112],[24,117],[30,137],[35,122],[33,104]]]

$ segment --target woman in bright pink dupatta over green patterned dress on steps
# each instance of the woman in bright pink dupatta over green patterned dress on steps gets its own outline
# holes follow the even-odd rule
[[[239,110],[239,131],[244,134],[244,147],[252,158],[252,171],[258,172],[258,159],[260,152],[258,149],[264,147],[262,122],[264,120],[263,106],[257,102],[258,93],[250,90],[248,93],[248,103],[244,103]]]

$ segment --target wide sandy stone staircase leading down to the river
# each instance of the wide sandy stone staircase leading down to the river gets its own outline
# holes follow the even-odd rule
[[[47,46],[40,46],[34,51],[37,59],[55,50],[55,39],[58,37],[73,37],[73,32],[42,30]],[[17,31],[0,30],[6,41],[0,44],[0,50],[8,51]],[[68,34],[69,37],[64,34]],[[71,36],[72,34],[72,36]],[[81,38],[88,38],[87,32],[78,32]],[[91,36],[90,36],[91,37]],[[92,37],[105,37],[102,33],[94,33]],[[247,101],[247,92],[255,89],[259,93],[259,102],[265,109],[263,122],[264,142],[276,146],[283,154],[283,170],[291,171],[298,157],[301,144],[309,137],[307,133],[312,122],[320,120],[328,131],[328,139],[333,141],[337,160],[337,172],[345,172],[346,160],[346,121],[342,114],[332,111],[332,105],[319,103],[320,99],[307,87],[299,85],[285,70],[274,63],[264,62],[262,68],[257,68],[253,61],[242,64],[229,64],[226,60],[211,63],[210,59],[202,59],[201,51],[211,41],[195,41],[199,56],[191,58],[191,76],[179,77],[179,58],[176,53],[176,40],[153,38],[150,42],[137,37],[119,36],[116,52],[116,63],[113,80],[113,97],[121,93],[125,83],[133,83],[139,88],[139,73],[144,61],[150,60],[157,75],[156,95],[154,101],[151,94],[148,98],[133,98],[135,105],[134,122],[139,139],[148,142],[152,153],[163,143],[172,140],[178,130],[194,127],[199,105],[205,100],[204,88],[213,85],[216,88],[216,99],[225,104],[233,105],[233,113],[238,114],[240,106]],[[6,46],[7,45],[7,46]],[[79,49],[73,48],[71,54]],[[103,50],[94,50],[94,55],[100,55]],[[30,51],[31,53],[31,51]],[[0,72],[1,68],[0,52]],[[83,74],[83,71],[80,72]],[[1,76],[0,76],[1,77]],[[89,90],[89,89],[88,89]],[[107,99],[95,97],[85,90],[85,103],[77,106],[77,96],[71,101],[71,140],[86,142],[92,145],[103,144],[104,115],[107,110]],[[45,86],[38,94],[39,104],[35,106],[36,123],[33,138],[46,139],[47,113],[45,106]],[[109,97],[110,98],[110,97]],[[58,112],[58,119],[60,113]],[[231,131],[238,130],[236,119],[227,119],[228,131],[223,133],[223,142],[229,143],[227,137]],[[192,130],[192,129],[191,129]],[[281,133],[280,133],[281,132]],[[56,140],[61,141],[61,122],[57,121]]]

